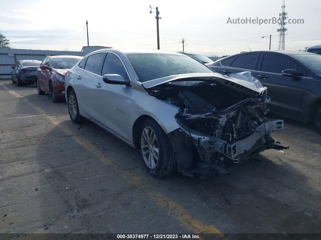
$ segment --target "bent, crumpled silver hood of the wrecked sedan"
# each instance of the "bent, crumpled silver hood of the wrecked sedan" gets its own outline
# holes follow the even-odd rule
[[[146,81],[142,83],[142,86],[144,88],[151,88],[167,82],[198,80],[206,80],[209,82],[213,81],[213,83],[219,82],[227,87],[246,93],[251,93],[252,90],[256,94],[261,94],[265,89],[267,89],[267,87],[262,86],[259,80],[251,76],[250,71],[233,73],[230,76],[224,76],[216,72],[179,74]]]

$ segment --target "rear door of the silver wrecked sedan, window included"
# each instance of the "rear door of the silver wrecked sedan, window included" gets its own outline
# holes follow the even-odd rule
[[[105,54],[105,52],[91,54],[79,62],[74,80],[79,109],[82,115],[92,120],[95,120],[94,112],[96,105],[99,104],[93,99],[94,91],[97,88],[95,83],[100,76]]]

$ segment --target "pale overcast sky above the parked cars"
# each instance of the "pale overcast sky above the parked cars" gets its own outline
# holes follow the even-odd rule
[[[227,24],[229,17],[278,18],[282,0],[270,1],[7,1],[0,0],[0,31],[12,48],[80,51],[87,46],[88,20],[91,46],[157,49],[155,13],[160,11],[160,49],[205,55],[230,55],[241,51],[278,49],[277,24]],[[285,49],[298,50],[321,44],[321,2],[286,0],[289,19]],[[248,47],[249,48],[248,48]]]

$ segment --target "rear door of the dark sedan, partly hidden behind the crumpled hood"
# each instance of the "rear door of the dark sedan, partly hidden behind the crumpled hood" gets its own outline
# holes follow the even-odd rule
[[[250,71],[251,75],[254,76],[257,68],[257,59],[259,54],[242,54],[236,56],[231,63],[223,69],[223,74],[229,75],[231,73],[239,73],[244,71]]]

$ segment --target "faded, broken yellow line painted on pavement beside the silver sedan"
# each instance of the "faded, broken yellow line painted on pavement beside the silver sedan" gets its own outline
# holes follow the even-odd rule
[[[27,101],[29,102],[29,101]],[[30,103],[31,105],[31,103]],[[42,113],[43,115],[46,114],[41,108],[31,105],[35,110]],[[54,125],[60,124],[60,121],[56,120],[56,117],[52,116],[46,116],[48,120],[50,120]],[[72,135],[73,132],[69,129],[62,129],[66,134]],[[114,165],[113,161],[109,159],[108,157],[105,157],[104,153],[100,151],[95,145],[93,145],[91,142],[86,141],[82,137],[78,136],[72,136],[75,142],[77,142],[79,145],[82,145],[88,152],[94,154],[96,157],[100,159],[103,163],[107,165]],[[146,188],[143,180],[141,178],[138,178],[136,176],[133,176],[129,172],[123,175],[124,179],[129,184],[133,184],[137,188],[144,189]],[[193,231],[196,234],[216,234],[215,236],[217,238],[224,237],[224,234],[221,233],[217,228],[215,228],[214,225],[207,226],[205,223],[200,221],[199,219],[193,218],[190,214],[187,213],[187,211],[180,206],[178,203],[175,203],[171,201],[170,199],[162,196],[159,193],[156,192],[150,192],[149,194],[150,199],[156,203],[157,206],[159,206],[161,209],[164,209],[166,211],[167,215],[177,220],[181,226],[186,228],[187,230]]]

